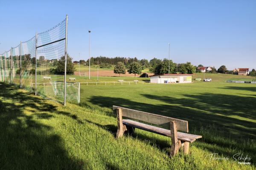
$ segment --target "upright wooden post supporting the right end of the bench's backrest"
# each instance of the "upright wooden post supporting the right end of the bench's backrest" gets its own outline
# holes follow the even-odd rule
[[[170,122],[170,130],[171,130],[171,141],[172,141],[171,156],[174,156],[179,152],[179,147],[181,144],[181,142],[178,141],[177,127],[176,127],[175,121]]]

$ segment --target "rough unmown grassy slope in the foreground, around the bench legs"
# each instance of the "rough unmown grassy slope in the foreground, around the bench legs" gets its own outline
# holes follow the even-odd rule
[[[210,153],[230,156],[244,152],[250,156],[250,152],[255,151],[255,145],[253,148],[242,140],[238,145],[223,140],[213,131],[196,132],[204,138],[192,144],[189,155],[169,158],[169,138],[136,130],[135,137],[117,139],[116,130],[116,118],[109,116],[105,109],[74,104],[63,107],[14,86],[0,85],[2,169],[255,168],[231,163],[231,160],[209,161]],[[211,142],[211,136],[218,139],[218,143]]]

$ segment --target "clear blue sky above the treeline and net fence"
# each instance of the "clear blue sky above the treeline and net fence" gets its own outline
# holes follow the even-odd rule
[[[68,53],[256,69],[256,0],[0,0],[0,53],[69,16]]]

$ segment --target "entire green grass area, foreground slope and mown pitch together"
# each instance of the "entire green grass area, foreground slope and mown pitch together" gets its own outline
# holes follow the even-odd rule
[[[2,169],[255,169],[253,84],[199,82],[81,86],[80,106],[60,104],[0,85]],[[112,105],[189,121],[203,135],[189,155],[169,158],[170,138],[136,130],[115,138]],[[210,160],[210,154],[228,160]],[[232,162],[243,153],[250,165]]]

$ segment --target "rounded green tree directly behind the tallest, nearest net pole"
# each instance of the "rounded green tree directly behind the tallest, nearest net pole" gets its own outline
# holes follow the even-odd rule
[[[67,74],[73,75],[75,72],[74,65],[72,63],[72,59],[69,55],[67,55]],[[64,74],[65,73],[65,56],[62,56],[61,59],[57,63],[56,72],[58,74]]]

